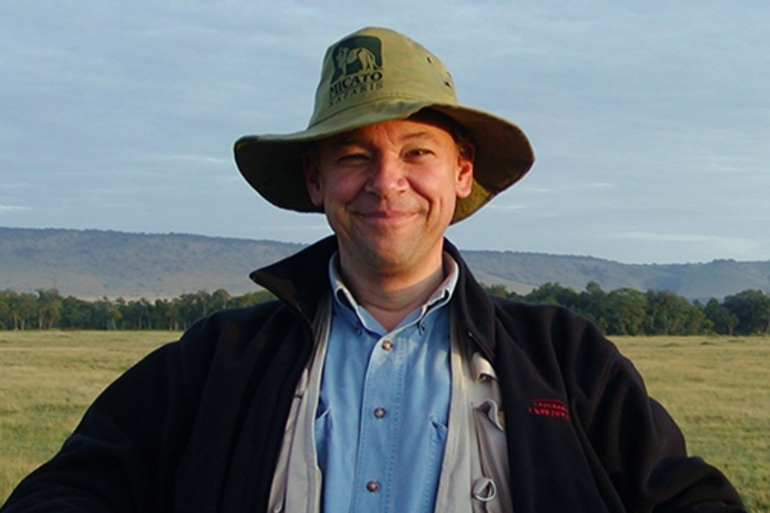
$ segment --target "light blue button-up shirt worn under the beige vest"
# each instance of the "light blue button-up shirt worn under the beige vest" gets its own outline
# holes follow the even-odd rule
[[[450,400],[450,300],[457,264],[387,332],[329,275],[334,301],[314,432],[324,513],[434,511]]]

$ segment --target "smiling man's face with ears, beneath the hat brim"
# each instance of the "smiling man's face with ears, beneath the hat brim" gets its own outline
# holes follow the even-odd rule
[[[457,198],[470,194],[473,147],[431,116],[383,122],[320,142],[306,165],[343,262],[412,271],[441,255]]]

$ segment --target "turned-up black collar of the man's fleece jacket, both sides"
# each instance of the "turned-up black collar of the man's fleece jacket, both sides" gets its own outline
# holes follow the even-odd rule
[[[336,250],[336,237],[330,235],[288,258],[253,271],[249,277],[257,285],[273,292],[312,324],[320,300],[330,291],[328,265]],[[446,238],[444,251],[452,255],[460,268],[460,277],[451,301],[460,328],[480,346],[487,358],[492,359],[494,304],[470,273],[460,252]]]

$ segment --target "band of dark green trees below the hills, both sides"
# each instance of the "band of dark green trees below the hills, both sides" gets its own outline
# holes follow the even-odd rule
[[[584,291],[547,283],[527,295],[503,285],[485,286],[491,295],[534,304],[561,305],[594,321],[607,335],[752,335],[770,333],[770,295],[746,290],[705,305],[671,291],[618,288],[606,292],[595,283]],[[275,298],[268,291],[232,296],[224,289],[198,291],[173,299],[87,301],[62,297],[55,289],[37,293],[0,291],[0,330],[22,329],[169,329],[189,328],[223,308]]]

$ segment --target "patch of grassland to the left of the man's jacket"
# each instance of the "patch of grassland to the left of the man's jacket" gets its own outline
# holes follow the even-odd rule
[[[85,408],[174,331],[0,331],[0,504]]]

